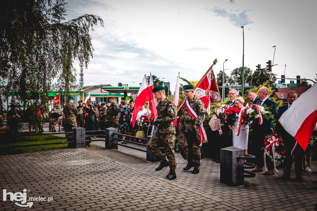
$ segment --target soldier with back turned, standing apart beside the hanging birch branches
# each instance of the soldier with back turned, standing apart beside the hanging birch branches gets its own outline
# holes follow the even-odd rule
[[[76,116],[78,115],[78,110],[73,104],[74,97],[69,95],[68,102],[64,107],[64,129],[65,132],[73,132],[74,128],[77,127]],[[66,137],[73,136],[73,134],[66,134]],[[67,141],[73,141],[73,138],[68,139]]]

